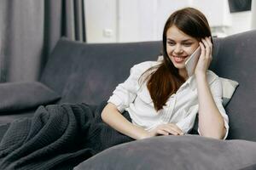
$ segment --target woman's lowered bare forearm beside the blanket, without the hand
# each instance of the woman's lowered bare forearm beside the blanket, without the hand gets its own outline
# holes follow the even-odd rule
[[[137,127],[120,114],[117,107],[108,103],[102,111],[102,120],[119,133],[124,133],[132,139],[144,139],[148,132],[142,127]]]

